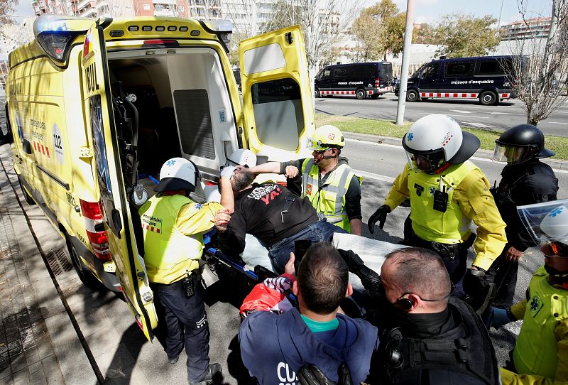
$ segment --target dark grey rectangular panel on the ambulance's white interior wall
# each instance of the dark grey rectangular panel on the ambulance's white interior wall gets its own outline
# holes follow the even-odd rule
[[[215,143],[207,90],[175,90],[173,102],[182,151],[187,155],[214,159]]]

